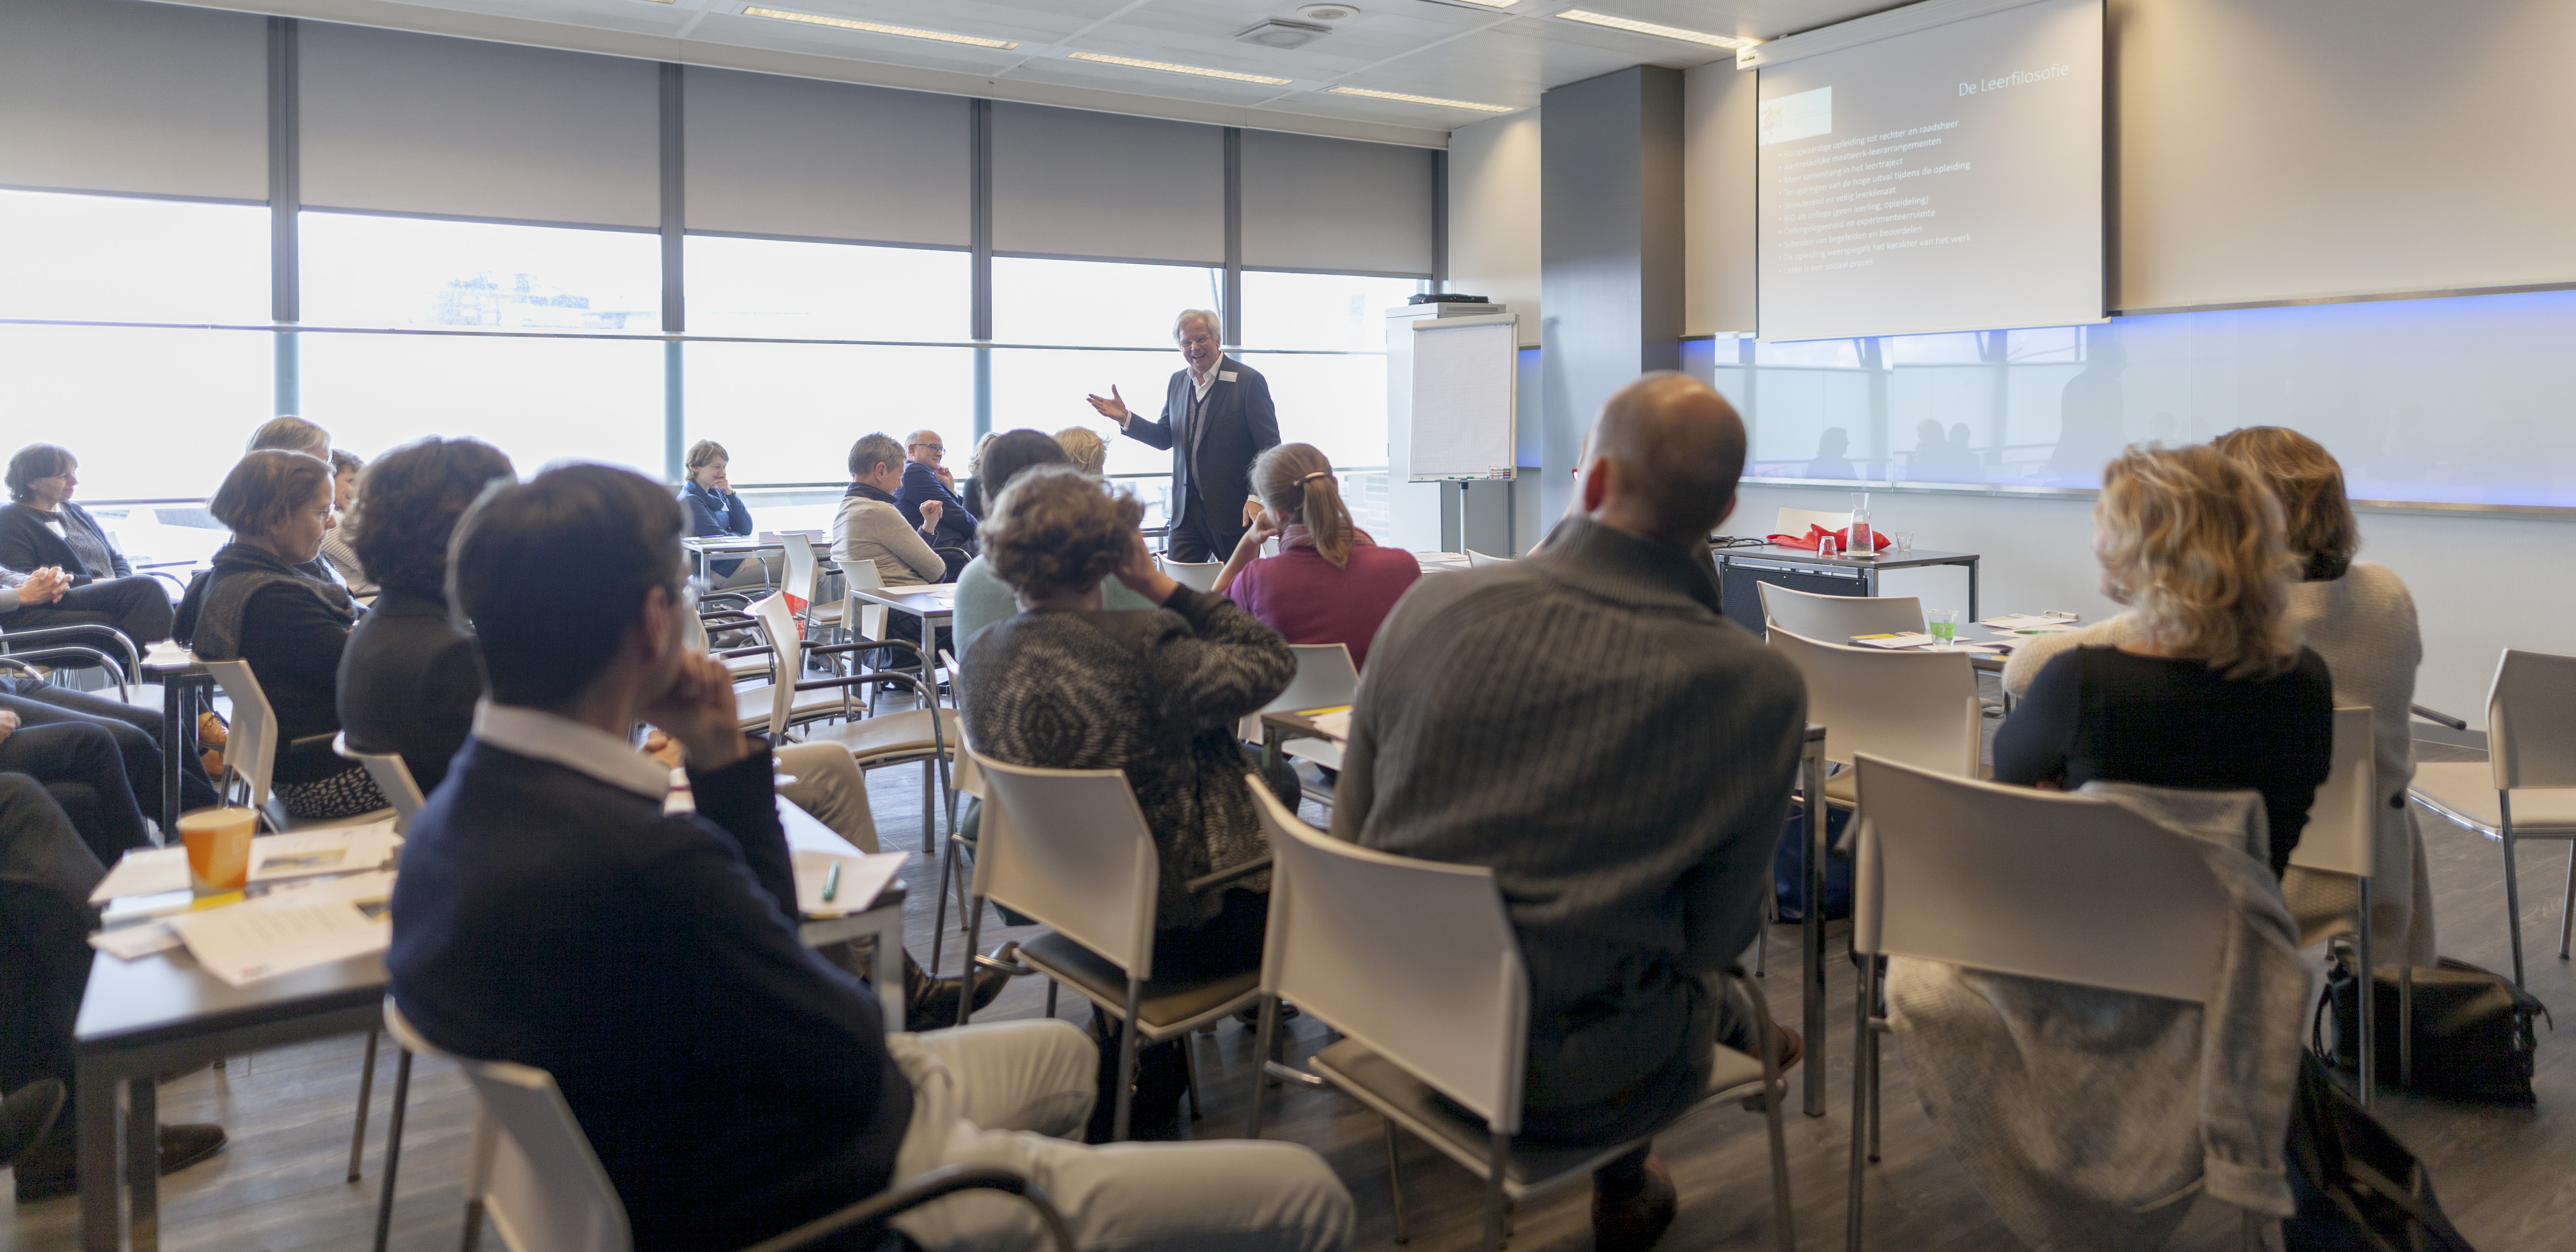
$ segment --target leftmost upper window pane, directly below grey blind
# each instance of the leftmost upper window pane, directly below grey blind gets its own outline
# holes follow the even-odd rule
[[[268,209],[0,191],[0,317],[268,322]]]

